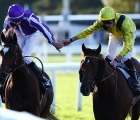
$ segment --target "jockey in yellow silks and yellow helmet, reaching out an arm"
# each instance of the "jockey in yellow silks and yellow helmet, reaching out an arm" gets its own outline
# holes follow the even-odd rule
[[[132,83],[134,85],[133,90],[140,93],[140,88],[136,82],[136,70],[131,63],[132,50],[136,38],[136,25],[130,17],[116,13],[112,7],[106,6],[101,9],[99,18],[93,25],[79,32],[76,36],[63,40],[63,43],[67,46],[78,39],[89,37],[98,30],[106,30],[110,33],[107,56],[105,59],[110,62],[114,68],[116,68],[119,61],[123,61],[129,69],[129,74],[134,79]],[[123,47],[121,51],[115,56],[118,46],[122,43]]]

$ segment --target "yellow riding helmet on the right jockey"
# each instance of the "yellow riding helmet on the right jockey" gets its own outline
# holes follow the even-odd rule
[[[113,20],[115,18],[115,11],[112,7],[106,6],[101,9],[99,13],[99,20]]]

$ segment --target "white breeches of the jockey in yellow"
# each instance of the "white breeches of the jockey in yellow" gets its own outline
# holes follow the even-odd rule
[[[133,41],[135,42],[135,38],[136,38],[136,32],[134,32],[134,38]],[[114,57],[116,56],[116,51],[117,48],[123,43],[123,39],[116,37],[115,35],[113,35],[112,33],[109,34],[109,42],[108,42],[108,48],[107,48],[107,56],[110,60],[113,60]],[[133,47],[132,47],[132,51],[134,49],[134,43],[133,43]],[[125,55],[122,58],[122,61],[126,61],[128,59],[131,59],[132,57],[132,51],[129,52],[127,55]]]

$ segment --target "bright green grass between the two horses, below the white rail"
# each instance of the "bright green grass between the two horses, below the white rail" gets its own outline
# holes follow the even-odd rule
[[[60,120],[93,120],[91,95],[82,97],[82,111],[77,111],[78,74],[57,74],[56,78],[56,115],[58,118]]]

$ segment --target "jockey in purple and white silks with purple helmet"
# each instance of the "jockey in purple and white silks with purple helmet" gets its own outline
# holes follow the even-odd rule
[[[63,44],[55,42],[49,27],[41,23],[40,19],[31,10],[24,10],[21,5],[13,4],[9,7],[7,14],[3,32],[5,33],[9,28],[14,29],[23,56],[31,56],[40,32],[60,52],[59,49],[63,47]],[[45,92],[50,86],[49,80],[42,75],[40,68],[30,57],[25,57],[24,61],[37,74],[41,89]]]

